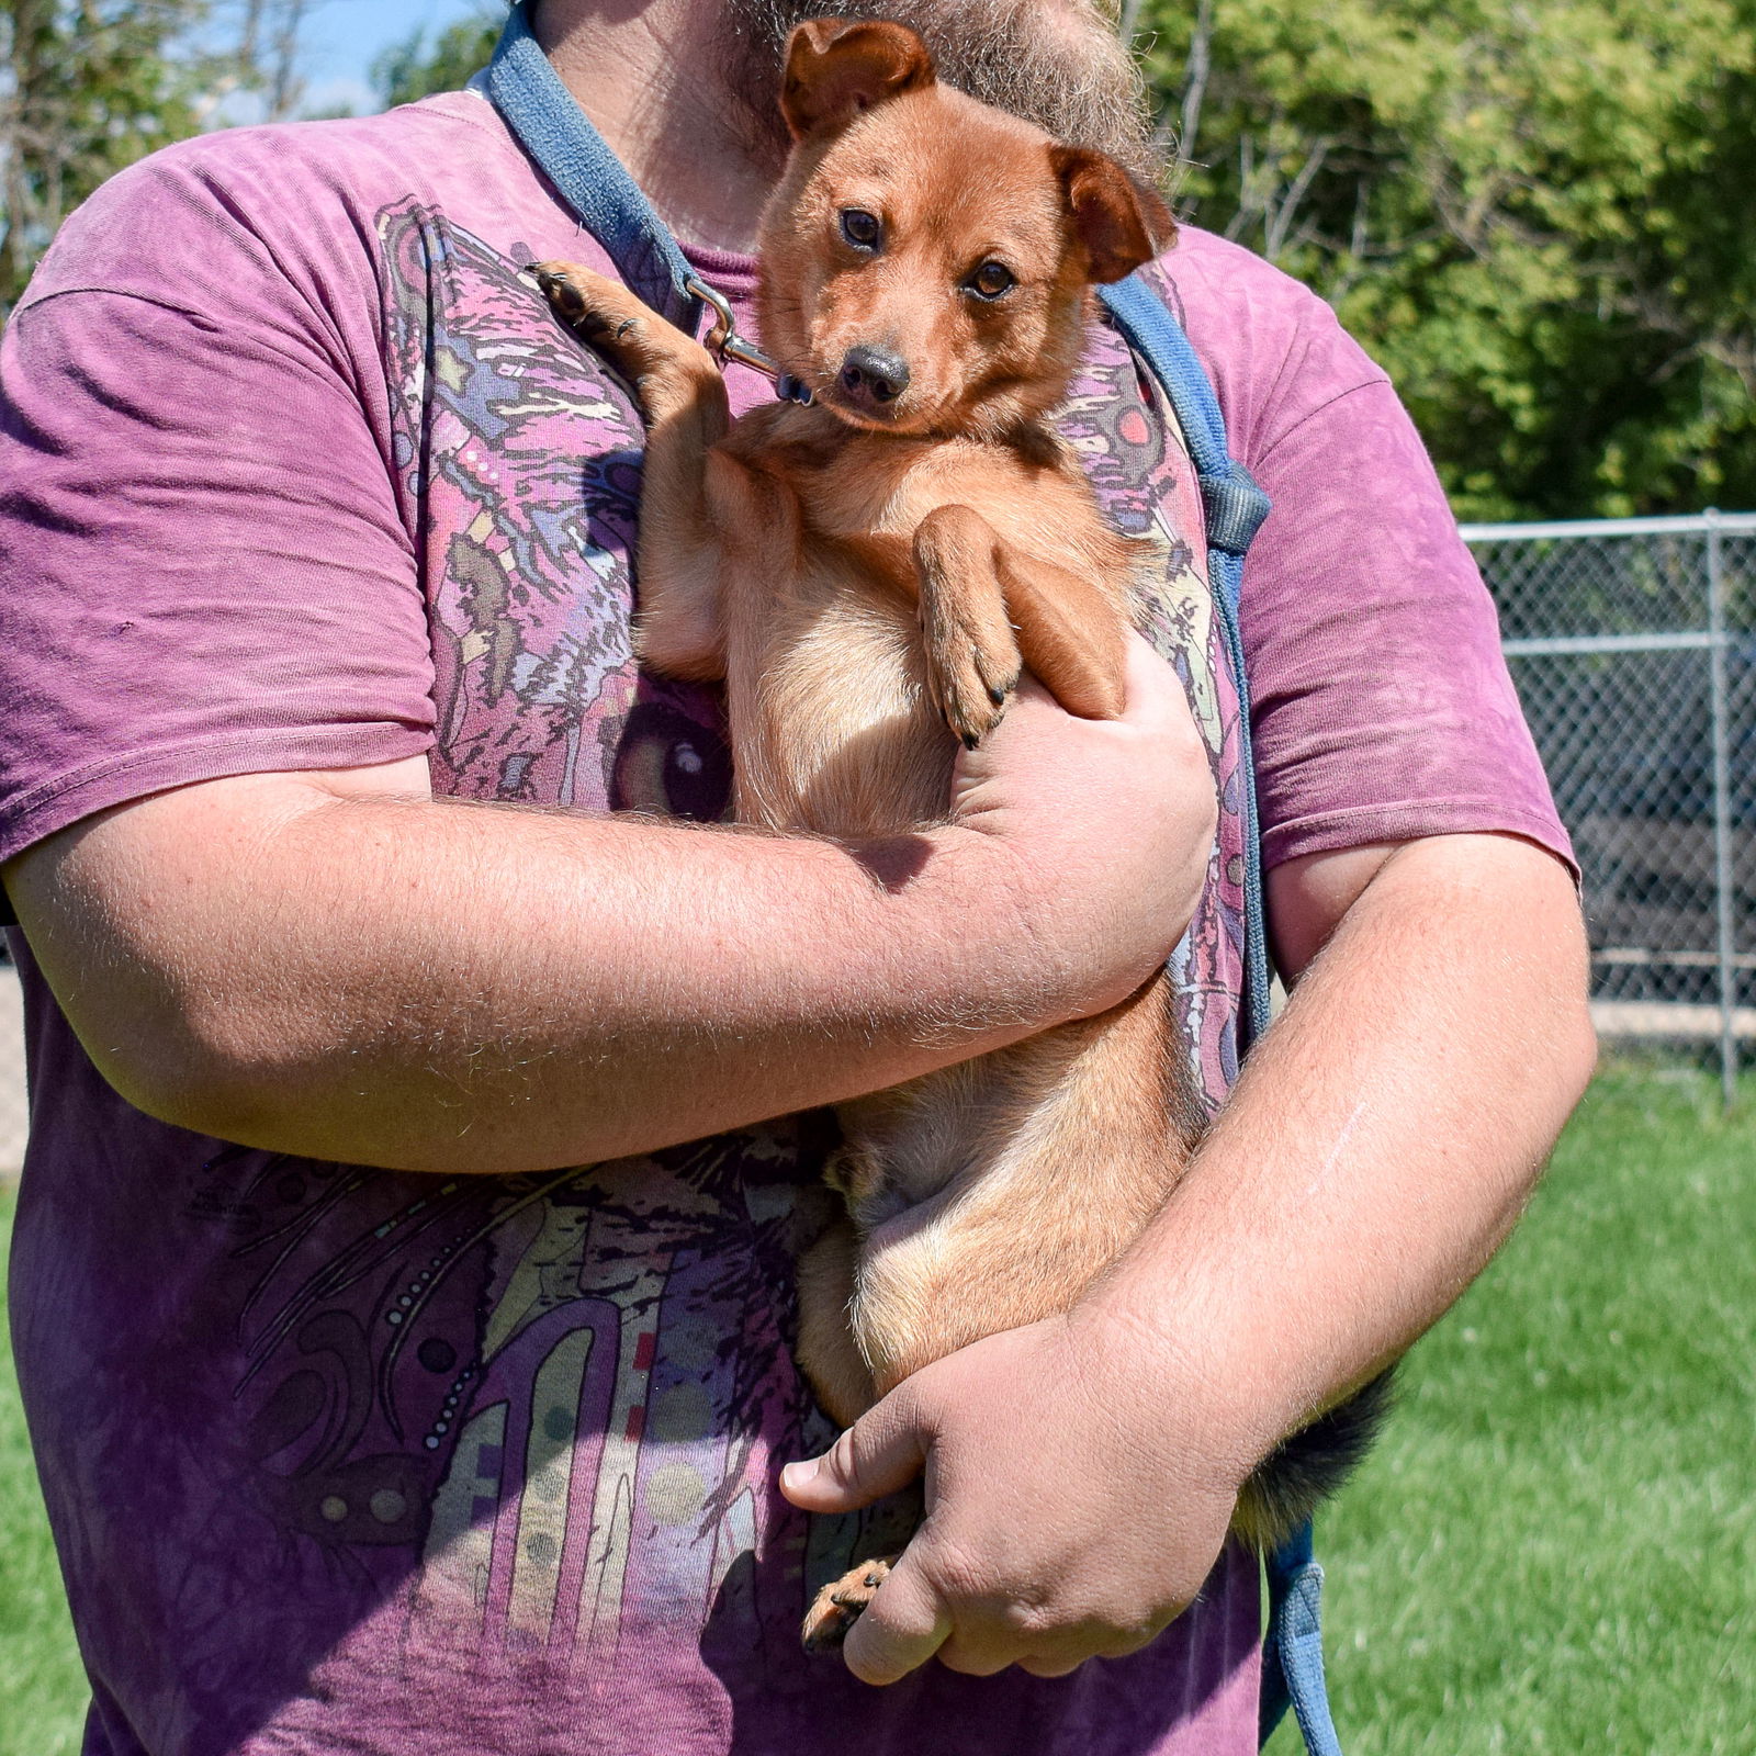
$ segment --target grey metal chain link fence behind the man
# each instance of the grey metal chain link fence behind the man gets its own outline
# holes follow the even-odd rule
[[[1605,1036],[1756,1038],[1756,515],[1466,525],[1584,873]]]

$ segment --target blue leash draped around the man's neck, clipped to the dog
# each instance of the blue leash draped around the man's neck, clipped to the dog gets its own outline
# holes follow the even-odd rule
[[[783,397],[806,400],[810,392],[780,378],[773,363],[741,342],[725,302],[701,283],[669,227],[653,211],[622,160],[574,102],[530,28],[529,0],[518,0],[500,33],[485,90],[513,137],[544,172],[562,200],[579,216],[639,297],[694,335],[702,307],[715,311],[709,337],[723,358],[743,360],[778,378]],[[1263,859],[1256,811],[1256,769],[1250,753],[1250,699],[1238,632],[1243,555],[1268,516],[1268,495],[1226,450],[1226,421],[1213,386],[1182,325],[1140,279],[1105,286],[1099,297],[1122,334],[1162,385],[1184,430],[1201,483],[1206,513],[1208,571],[1220,634],[1238,687],[1240,774],[1245,829],[1245,1029],[1250,1043],[1268,1029],[1268,932],[1263,918]],[[1291,1703],[1310,1756],[1342,1756],[1324,1691],[1319,1594],[1322,1568],[1312,1559],[1310,1526],[1268,1559],[1270,1617],[1263,1647],[1263,1742]]]

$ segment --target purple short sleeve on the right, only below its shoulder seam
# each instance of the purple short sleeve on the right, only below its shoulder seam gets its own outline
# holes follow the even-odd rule
[[[1245,572],[1263,857],[1503,831],[1572,862],[1438,478],[1385,383],[1254,465],[1275,511]]]

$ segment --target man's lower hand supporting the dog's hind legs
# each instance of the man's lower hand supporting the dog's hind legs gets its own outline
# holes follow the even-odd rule
[[[848,1668],[1059,1677],[1147,1645],[1212,1572],[1249,1473],[1199,1410],[1157,1338],[1078,1315],[906,1378],[781,1475],[794,1505],[852,1512],[925,1466],[925,1521],[848,1633]]]

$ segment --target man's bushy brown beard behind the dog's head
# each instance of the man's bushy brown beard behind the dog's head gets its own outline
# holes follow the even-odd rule
[[[1150,183],[1164,177],[1145,86],[1105,16],[1106,0],[722,0],[722,7],[736,44],[727,83],[750,112],[752,146],[776,158],[788,144],[776,97],[792,28],[810,18],[889,18],[920,32],[946,84],[1068,146],[1094,146]]]

